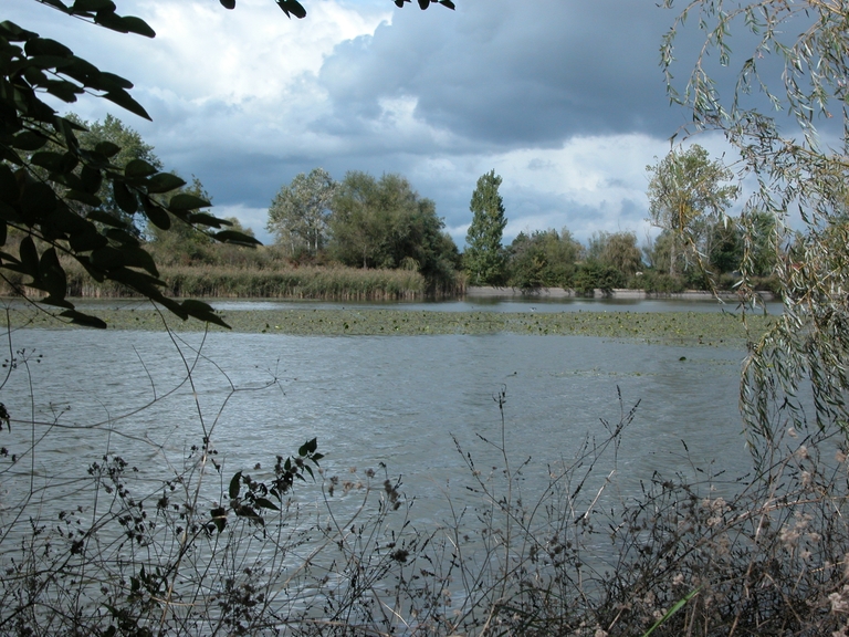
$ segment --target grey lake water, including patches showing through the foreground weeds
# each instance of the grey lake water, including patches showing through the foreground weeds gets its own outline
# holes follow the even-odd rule
[[[222,303],[230,314],[242,311],[241,301]],[[660,309],[654,302],[649,306]],[[386,305],[365,304],[363,310],[374,307]],[[512,307],[505,303],[484,311]],[[609,311],[607,304],[589,307]],[[623,321],[640,316],[640,310],[630,311]],[[25,328],[13,331],[11,340],[20,354],[0,399],[13,421],[0,442],[17,462],[0,460],[0,562],[17,560],[22,543],[29,542],[67,551],[69,535],[62,533],[78,529],[75,536],[91,537],[90,550],[98,556],[86,566],[86,595],[94,608],[98,581],[132,576],[139,562],[159,563],[176,554],[182,518],[163,515],[157,501],[163,495],[172,498],[170,505],[191,500],[197,484],[192,448],[202,447],[205,439],[216,450],[211,458],[219,470],[209,468],[202,483],[201,520],[209,519],[217,503],[229,501],[234,473],[270,481],[275,457],[294,453],[314,437],[325,455],[325,477],[317,477],[318,484],[296,484],[294,500],[302,508],[274,526],[282,535],[270,533],[266,540],[263,534],[260,540],[259,533],[232,525],[232,534],[220,540],[232,539],[227,552],[214,534],[207,542],[199,532],[189,554],[192,562],[180,570],[185,578],[178,591],[191,598],[193,574],[219,582],[241,577],[248,572],[243,565],[262,564],[262,573],[273,574],[268,591],[275,604],[292,616],[305,612],[318,618],[325,616],[322,595],[349,591],[358,560],[374,565],[373,557],[385,556],[401,533],[434,534],[430,546],[439,565],[429,568],[453,563],[454,541],[463,544],[464,568],[496,564],[488,553],[493,533],[486,534],[486,520],[496,537],[501,522],[486,515],[506,493],[502,440],[515,477],[511,501],[531,510],[544,494],[554,493],[546,489],[558,467],[588,450],[575,480],[560,484],[567,498],[553,495],[548,503],[554,509],[541,508],[533,525],[548,533],[539,537],[547,541],[546,515],[574,521],[579,508],[591,509],[598,531],[583,536],[580,562],[599,573],[618,560],[608,524],[621,523],[621,504],[639,499],[658,474],[700,482],[706,493],[710,476],[727,470],[729,477],[737,477],[750,463],[737,414],[742,347],[516,333],[205,336]],[[610,430],[637,403],[618,447],[602,453]],[[108,479],[102,482],[99,500],[93,498],[90,468],[103,466],[107,455],[127,462],[122,488],[134,500],[145,500],[148,523],[158,525],[155,539],[142,549],[126,540],[124,526],[106,525],[116,493]],[[335,477],[338,483],[329,495]],[[368,521],[378,512],[385,479],[400,479],[409,508],[373,526]],[[491,497],[481,492],[479,479],[491,485]],[[176,493],[163,487],[164,480],[172,480]],[[358,485],[369,482],[377,493],[364,504]],[[578,483],[580,495],[568,498]],[[713,495],[734,487],[723,476],[716,488]],[[575,509],[568,509],[574,502]],[[563,503],[566,509],[558,509]],[[122,515],[128,511],[127,520],[143,520],[132,507],[114,510]],[[60,511],[70,514],[60,516]],[[458,519],[460,534],[452,536]],[[85,534],[93,526],[98,531]],[[34,537],[33,529],[42,534]],[[275,542],[283,549],[275,552]],[[442,557],[439,546],[446,547]],[[30,554],[48,551],[33,549]],[[304,564],[310,566],[302,568]],[[391,598],[392,582],[377,582],[375,592]],[[593,584],[587,586],[591,592]],[[453,588],[455,608],[472,599],[470,591]]]

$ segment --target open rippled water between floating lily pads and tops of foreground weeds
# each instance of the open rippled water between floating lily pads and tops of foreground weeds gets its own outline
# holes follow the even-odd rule
[[[617,388],[625,409],[640,401],[619,455],[626,492],[656,470],[692,472],[692,463],[716,459],[738,473],[747,462],[736,399],[740,349],[514,334],[217,333],[198,357],[202,336],[181,337],[185,359],[161,333],[14,333],[15,348],[43,359],[29,364],[33,403],[20,366],[2,401],[13,418],[34,409],[44,425],[15,426],[3,442],[20,453],[33,432],[40,437],[46,424],[57,424],[34,456],[18,463],[22,478],[30,468],[45,484],[82,478],[106,451],[161,476],[168,463],[181,466],[205,431],[224,464],[222,476],[232,476],[258,462],[271,468],[275,455],[317,437],[328,472],[382,462],[390,476],[403,476],[409,495],[438,509],[446,484],[469,478],[452,436],[479,464],[499,464],[479,436],[501,436],[493,400],[501,390],[507,448],[517,461],[532,458],[532,481],[534,470],[544,480],[546,464],[570,457],[586,436],[602,437],[600,419],[618,421]],[[187,365],[195,391],[184,382]],[[66,492],[73,497],[72,487]],[[438,515],[436,509],[428,514]]]

